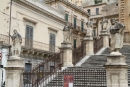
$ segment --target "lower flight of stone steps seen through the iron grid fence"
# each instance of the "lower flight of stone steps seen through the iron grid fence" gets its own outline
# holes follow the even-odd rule
[[[73,87],[106,87],[106,71],[104,68],[85,67],[70,67],[63,72],[57,72],[57,76],[45,87],[63,87],[64,75],[74,77]]]

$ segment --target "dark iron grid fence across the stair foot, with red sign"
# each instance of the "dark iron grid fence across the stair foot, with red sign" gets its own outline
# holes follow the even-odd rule
[[[49,77],[46,76],[46,73],[24,74],[23,87],[106,87],[106,70],[104,68],[67,68],[57,70]],[[46,77],[46,79],[41,80],[42,77]],[[40,80],[41,82],[39,82]]]

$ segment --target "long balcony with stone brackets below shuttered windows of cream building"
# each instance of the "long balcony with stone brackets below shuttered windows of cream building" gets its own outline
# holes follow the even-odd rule
[[[9,36],[0,34],[0,44],[2,46],[11,46],[9,44]],[[45,55],[51,55],[55,52],[59,52],[59,48],[57,46],[52,46],[49,44],[45,44],[38,41],[31,41],[27,40],[25,38],[22,38],[22,50],[21,54],[37,54],[43,56]]]

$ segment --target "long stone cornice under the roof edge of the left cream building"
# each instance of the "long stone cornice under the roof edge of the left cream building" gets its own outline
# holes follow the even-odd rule
[[[35,12],[38,12],[40,14],[44,14],[45,16],[49,17],[49,18],[52,18],[54,20],[57,20],[59,21],[60,23],[63,23],[65,24],[65,20],[58,17],[57,15],[54,15],[30,2],[27,2],[26,0],[13,0],[15,3],[18,3],[18,4],[21,4],[23,6],[26,6],[27,8],[31,9],[31,10],[34,10]]]

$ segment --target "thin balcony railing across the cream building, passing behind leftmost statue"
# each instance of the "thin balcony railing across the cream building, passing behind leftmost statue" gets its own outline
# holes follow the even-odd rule
[[[0,34],[0,41],[3,41],[4,44],[9,44],[9,36]],[[26,48],[34,48],[39,50],[45,50],[50,52],[59,52],[59,48],[54,45],[45,44],[42,42],[29,40],[22,38],[22,46]]]

